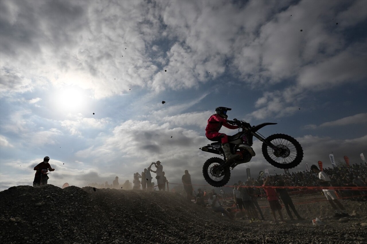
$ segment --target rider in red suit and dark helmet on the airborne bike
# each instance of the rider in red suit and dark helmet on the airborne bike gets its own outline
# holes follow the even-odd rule
[[[230,146],[228,143],[228,136],[224,133],[219,133],[222,125],[228,129],[238,129],[238,125],[230,125],[229,123],[235,124],[234,121],[227,120],[227,111],[232,110],[232,108],[217,107],[215,108],[215,114],[211,115],[208,119],[208,125],[206,127],[205,136],[211,141],[221,141],[222,149],[224,151],[226,160],[232,161],[240,158],[239,154],[232,154],[230,151]],[[250,127],[250,124],[248,124]],[[252,149],[252,148],[251,148]]]

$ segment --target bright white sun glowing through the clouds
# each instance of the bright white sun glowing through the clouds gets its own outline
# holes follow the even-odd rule
[[[56,106],[65,112],[80,112],[85,106],[86,95],[83,90],[76,87],[64,87],[55,95]]]

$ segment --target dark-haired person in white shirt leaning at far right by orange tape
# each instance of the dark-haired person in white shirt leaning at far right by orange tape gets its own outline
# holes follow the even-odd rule
[[[310,170],[318,174],[319,183],[321,186],[330,186],[331,180],[325,172],[319,170],[319,168],[315,164],[312,164],[312,166],[310,167]],[[334,217],[349,216],[344,206],[339,202],[338,197],[335,195],[334,190],[323,189],[322,191],[324,192],[324,195],[326,196],[326,199],[330,203],[331,207],[333,207],[335,211]],[[340,208],[340,210],[338,209],[337,206]]]

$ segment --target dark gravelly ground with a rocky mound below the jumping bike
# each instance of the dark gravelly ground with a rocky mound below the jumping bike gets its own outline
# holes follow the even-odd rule
[[[294,202],[322,195],[295,196]],[[0,192],[1,243],[367,243],[366,201],[341,200],[351,216],[331,217],[328,203],[297,204],[303,221],[230,221],[178,193],[14,186]],[[260,206],[267,206],[259,199]],[[353,213],[353,215],[352,215]],[[283,214],[287,214],[283,209]],[[312,219],[324,226],[313,226]]]

